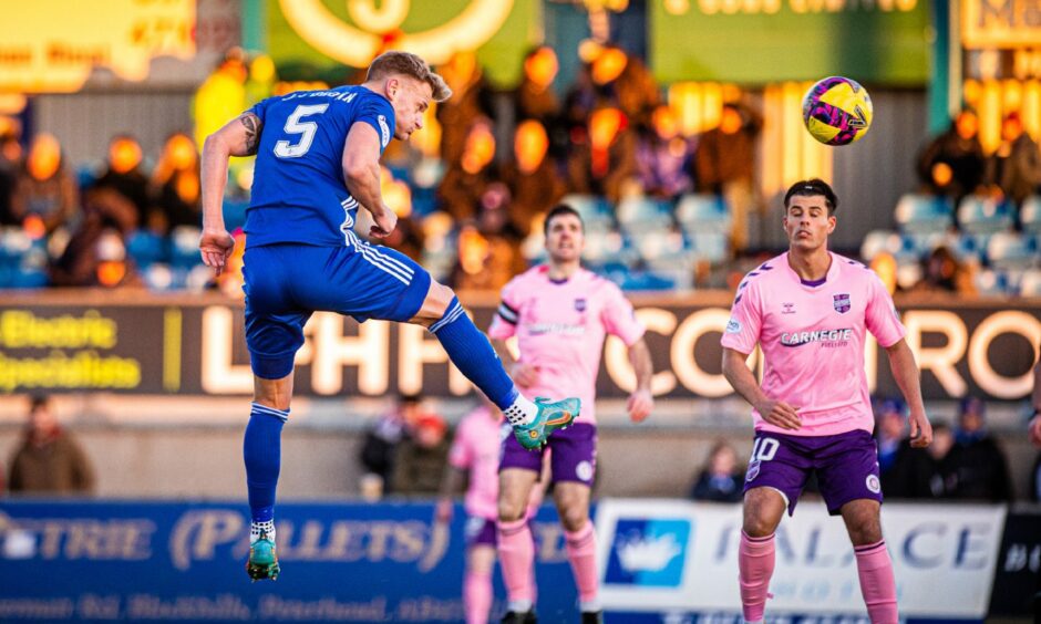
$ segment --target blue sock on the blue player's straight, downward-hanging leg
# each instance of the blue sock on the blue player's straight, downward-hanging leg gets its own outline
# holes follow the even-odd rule
[[[246,459],[246,487],[249,491],[249,512],[254,522],[270,522],[275,518],[275,488],[281,465],[282,425],[289,410],[252,404],[243,457]]]

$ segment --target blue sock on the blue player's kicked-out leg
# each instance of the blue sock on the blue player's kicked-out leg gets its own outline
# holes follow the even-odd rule
[[[460,305],[458,298],[452,298],[444,316],[431,325],[430,331],[441,341],[441,346],[460,372],[499,409],[508,409],[515,403],[519,393],[513,379],[503,370],[503,363],[487,336]]]

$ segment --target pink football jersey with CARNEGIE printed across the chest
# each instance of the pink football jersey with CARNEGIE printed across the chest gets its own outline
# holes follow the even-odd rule
[[[753,409],[755,429],[801,436],[872,431],[864,371],[865,331],[883,347],[904,337],[893,299],[874,271],[832,253],[823,282],[808,284],[783,253],[751,271],[738,287],[722,344],[765,360],[762,388],[798,410],[802,427],[782,429]]]

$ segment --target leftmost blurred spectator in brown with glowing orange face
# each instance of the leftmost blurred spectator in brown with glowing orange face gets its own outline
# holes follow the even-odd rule
[[[17,220],[40,220],[50,235],[59,226],[71,226],[79,212],[79,189],[65,166],[61,145],[53,135],[41,133],[32,139],[29,155],[19,171],[11,211]]]

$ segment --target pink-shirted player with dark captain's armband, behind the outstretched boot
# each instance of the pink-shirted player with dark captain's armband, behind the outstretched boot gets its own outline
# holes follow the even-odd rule
[[[581,416],[549,439],[553,496],[564,526],[567,557],[578,585],[583,622],[600,621],[596,534],[589,520],[589,497],[596,474],[597,429],[594,415],[596,378],[607,334],[629,350],[636,385],[629,417],[639,423],[650,414],[652,376],[643,325],[632,304],[612,282],[581,268],[585,231],[578,212],[557,206],[545,220],[549,259],[514,278],[503,289],[502,304],[488,335],[509,361],[505,340],[516,336],[519,357],[512,372],[533,395],[554,396],[567,388],[581,398]],[[542,458],[525,453],[514,438],[503,446],[498,490],[498,553],[506,584],[503,622],[535,621],[532,533],[525,518],[529,493],[538,480]]]

